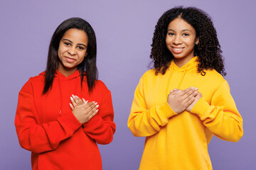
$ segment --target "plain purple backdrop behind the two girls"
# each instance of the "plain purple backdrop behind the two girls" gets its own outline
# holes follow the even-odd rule
[[[134,89],[147,70],[156,21],[174,6],[196,6],[209,13],[225,56],[225,79],[244,120],[237,142],[213,137],[209,145],[213,169],[256,167],[256,2],[165,1],[0,1],[0,169],[31,169],[30,152],[18,144],[14,117],[18,91],[29,77],[46,68],[48,44],[67,18],[85,18],[97,35],[100,79],[112,91],[117,131],[110,145],[100,145],[103,169],[138,169],[144,137],[134,137],[127,118]]]

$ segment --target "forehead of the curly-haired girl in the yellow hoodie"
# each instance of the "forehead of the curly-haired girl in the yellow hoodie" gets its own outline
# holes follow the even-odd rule
[[[184,21],[182,18],[175,18],[173,21],[171,21],[168,25],[168,29],[171,30],[191,30],[195,32],[195,29],[193,26],[191,26],[189,23]]]

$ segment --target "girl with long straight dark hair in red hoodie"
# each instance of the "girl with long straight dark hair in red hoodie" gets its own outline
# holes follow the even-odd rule
[[[102,169],[97,143],[115,131],[111,93],[97,80],[96,38],[89,23],[70,18],[50,41],[46,71],[18,94],[18,140],[32,169]]]

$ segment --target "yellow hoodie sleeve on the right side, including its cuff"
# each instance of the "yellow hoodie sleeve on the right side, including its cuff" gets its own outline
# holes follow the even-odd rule
[[[243,135],[242,117],[235,106],[227,81],[215,91],[210,104],[201,98],[193,106],[191,113],[197,114],[203,125],[222,140],[238,142]]]

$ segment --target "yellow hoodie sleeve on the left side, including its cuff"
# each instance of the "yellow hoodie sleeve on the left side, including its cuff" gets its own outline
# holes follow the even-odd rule
[[[161,106],[146,107],[144,77],[142,77],[134,92],[132,108],[127,123],[132,134],[137,137],[154,135],[168,123],[169,118],[173,115],[176,115],[176,113],[171,110],[167,101]]]

